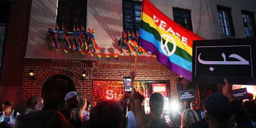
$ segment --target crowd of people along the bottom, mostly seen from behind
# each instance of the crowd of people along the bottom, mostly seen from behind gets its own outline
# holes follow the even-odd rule
[[[134,79],[136,73],[131,72]],[[223,94],[214,93],[202,101],[202,117],[196,103],[190,107],[185,101],[181,113],[180,128],[231,128],[229,121],[235,119],[236,128],[256,128],[256,103],[253,100],[241,104],[232,95],[232,85],[224,79]],[[44,99],[31,97],[24,114],[13,110],[13,102],[2,104],[0,128],[172,128],[161,119],[164,98],[161,93],[152,93],[149,99],[150,112],[145,113],[145,97],[136,92],[124,92],[118,100],[102,99],[92,109],[91,103],[75,91],[66,94],[58,105],[59,110],[42,110]]]

